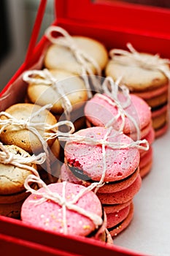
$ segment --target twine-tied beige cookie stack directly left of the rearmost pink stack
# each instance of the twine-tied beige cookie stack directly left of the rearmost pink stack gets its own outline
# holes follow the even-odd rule
[[[23,80],[28,83],[27,102],[52,104],[50,111],[58,121],[71,120],[75,129],[85,127],[88,91],[82,78],[63,70],[43,69],[24,72]]]

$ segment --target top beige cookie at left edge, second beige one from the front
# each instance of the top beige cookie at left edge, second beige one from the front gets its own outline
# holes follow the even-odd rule
[[[39,105],[20,103],[12,105],[5,110],[5,112],[9,113],[18,121],[26,121],[28,118],[31,118],[31,115],[36,113],[40,108],[41,107]],[[6,116],[1,116],[1,120],[6,119]],[[45,125],[53,125],[56,124],[57,121],[55,116],[53,116],[49,110],[43,110],[39,114],[36,114],[34,118],[31,118],[31,122],[36,124],[42,123],[41,129],[39,129],[39,127],[36,129],[42,138],[45,138],[45,132],[47,132],[47,130],[45,131]],[[2,126],[0,125],[0,127]],[[3,132],[0,134],[0,140],[4,144],[19,146],[30,154],[43,151],[42,143],[34,132],[27,128],[19,127],[15,124],[8,124],[7,127],[5,127]],[[47,140],[47,143],[49,146],[51,146],[53,140]]]

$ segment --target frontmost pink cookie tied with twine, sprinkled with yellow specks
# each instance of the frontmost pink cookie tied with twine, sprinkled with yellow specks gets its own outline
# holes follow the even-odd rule
[[[29,185],[32,182],[39,184],[42,189],[32,189]],[[27,200],[23,203],[21,219],[24,222],[29,222],[32,224],[32,220],[34,224],[37,225],[34,218],[28,217],[28,215],[31,213],[31,208],[34,207],[34,211],[36,211],[37,208],[37,211],[39,211],[37,214],[41,215],[38,216],[39,226],[45,229],[56,229],[57,232],[64,234],[71,233],[72,226],[74,227],[74,225],[81,225],[83,230],[82,232],[88,235],[94,229],[98,229],[98,227],[103,224],[103,219],[101,216],[101,203],[98,200],[98,197],[96,197],[93,192],[90,192],[90,189],[88,188],[82,187],[80,185],[66,183],[65,181],[63,181],[63,183],[50,184],[47,186],[44,181],[33,175],[28,176],[25,182],[25,187],[27,192],[31,192],[32,195],[28,197]],[[99,208],[94,208],[87,202],[85,203],[86,197],[88,197],[88,200],[89,197],[91,200],[93,198],[95,200],[93,203]],[[47,207],[47,210],[43,213],[41,211],[44,207]],[[53,212],[51,212],[52,208]],[[80,219],[79,223],[74,222],[74,214],[78,219]],[[56,224],[56,222],[58,224]],[[92,227],[89,226],[91,222],[93,223],[93,225],[91,224]],[[52,227],[49,227],[51,225]],[[55,228],[53,225],[55,225]],[[74,227],[74,229],[77,230],[77,227]],[[72,230],[72,233],[74,233],[75,230]]]

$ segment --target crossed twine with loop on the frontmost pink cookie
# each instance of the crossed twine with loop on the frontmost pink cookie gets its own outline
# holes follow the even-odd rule
[[[39,186],[43,187],[45,192],[39,192],[39,190],[32,189],[29,186],[30,182],[39,184]],[[96,227],[98,227],[99,225],[102,225],[103,220],[101,219],[101,217],[99,217],[97,214],[86,211],[84,208],[81,208],[80,206],[76,205],[77,201],[80,200],[80,197],[82,197],[82,195],[84,195],[86,192],[90,190],[88,188],[83,187],[80,190],[80,192],[77,195],[75,195],[72,201],[66,201],[66,181],[63,181],[61,184],[63,185],[62,196],[56,192],[51,192],[49,187],[47,187],[45,182],[42,181],[40,178],[34,175],[30,175],[26,178],[25,188],[27,189],[27,192],[31,192],[32,194],[38,195],[40,197],[39,199],[32,201],[33,203],[35,203],[35,205],[44,203],[47,200],[52,200],[54,203],[57,203],[59,206],[61,206],[63,211],[63,233],[65,234],[67,234],[66,209],[75,211],[78,214],[82,214],[85,217],[88,217],[90,220],[93,221]]]

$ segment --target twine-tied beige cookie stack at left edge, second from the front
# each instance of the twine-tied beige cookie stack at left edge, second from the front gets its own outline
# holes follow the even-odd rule
[[[48,108],[51,105],[40,107],[39,105],[18,103],[10,106],[0,113],[0,140],[6,145],[14,145],[23,148],[28,154],[45,152],[45,164],[39,165],[39,174],[53,182],[52,165],[58,164],[60,144],[57,139],[49,139],[48,135],[56,133],[58,125],[55,116]],[[52,148],[52,149],[50,149]],[[45,172],[42,172],[45,170]],[[57,171],[57,167],[53,169]],[[54,173],[54,176],[57,176]]]

